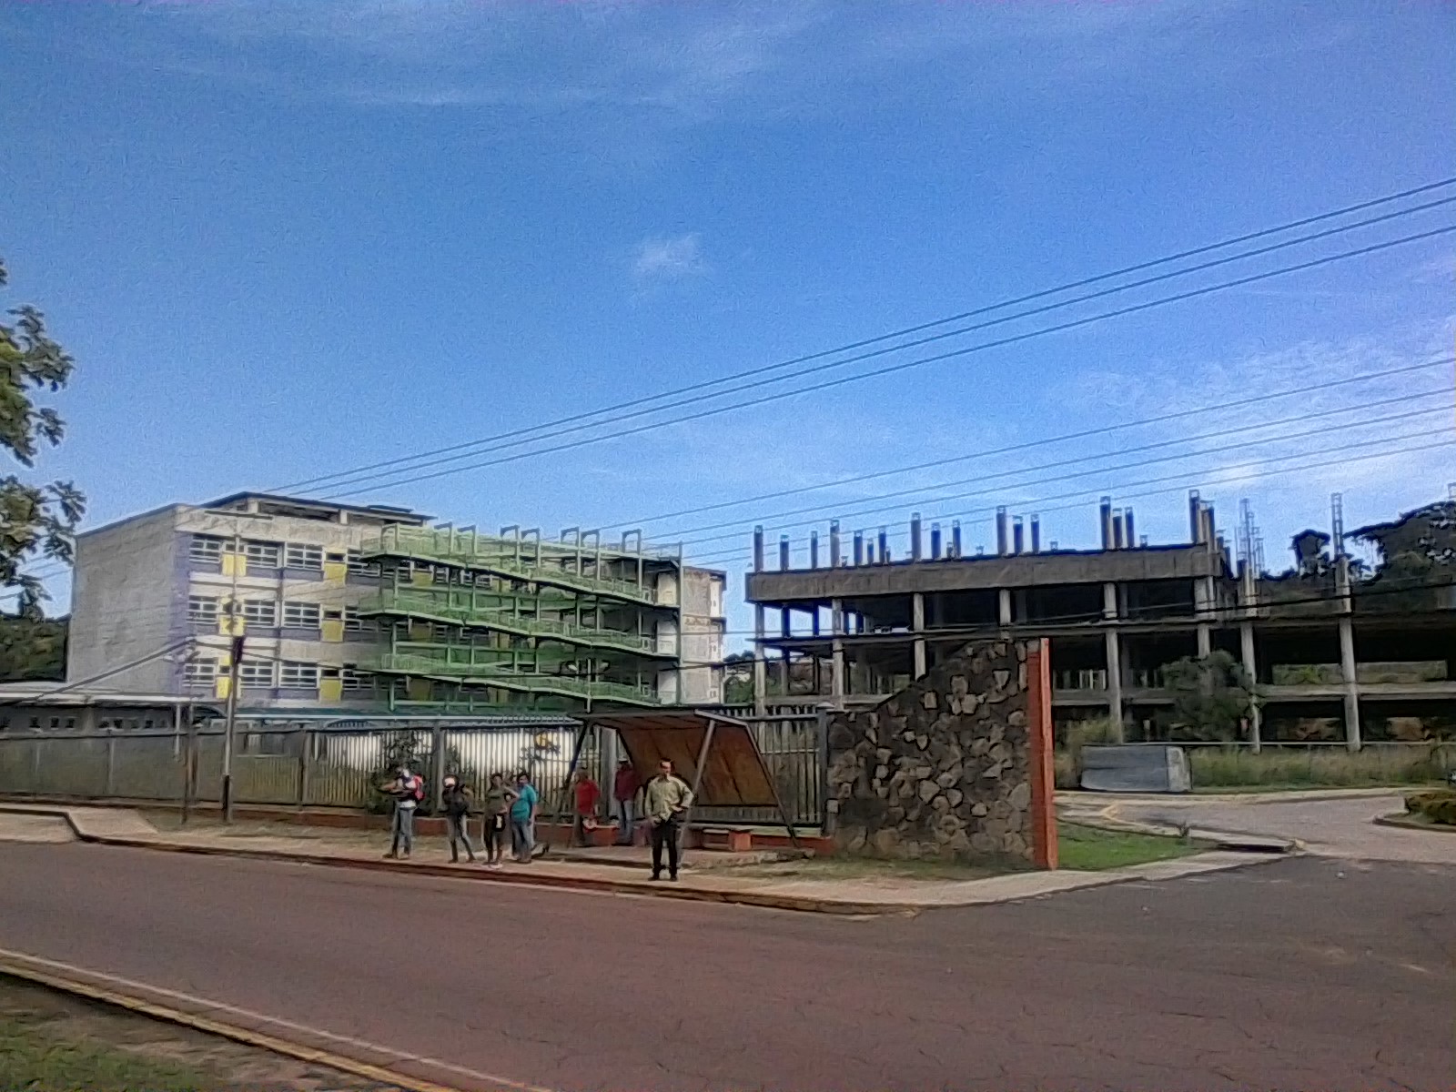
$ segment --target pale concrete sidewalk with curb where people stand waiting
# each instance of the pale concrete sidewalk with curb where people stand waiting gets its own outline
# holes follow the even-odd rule
[[[82,842],[106,846],[290,860],[393,874],[414,872],[479,882],[735,903],[828,914],[909,914],[939,907],[1008,903],[1083,887],[1174,879],[1268,859],[1248,853],[1211,852],[1104,872],[1010,872],[974,879],[874,875],[812,879],[773,875],[772,868],[756,869],[759,875],[743,875],[743,868],[719,871],[689,866],[684,868],[681,881],[674,884],[652,882],[646,875],[632,875],[620,865],[588,865],[575,860],[508,863],[501,871],[485,869],[480,865],[453,865],[446,849],[434,839],[424,844],[416,839],[416,852],[411,860],[384,860],[381,859],[384,843],[373,831],[341,834],[317,830],[304,833],[301,828],[275,830],[282,824],[239,824],[223,828],[215,823],[195,823],[185,830],[159,830],[135,811],[44,804],[0,804],[0,812],[13,817],[29,815],[36,820],[64,818]]]

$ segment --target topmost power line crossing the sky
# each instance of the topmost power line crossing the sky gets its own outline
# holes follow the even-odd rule
[[[852,352],[855,349],[860,349],[860,348],[865,348],[868,345],[877,345],[877,344],[881,344],[881,342],[885,342],[885,341],[894,341],[897,338],[910,336],[913,333],[920,333],[920,332],[927,331],[927,329],[935,329],[938,326],[945,326],[945,325],[952,323],[952,322],[961,322],[964,319],[977,317],[980,314],[989,314],[992,312],[1003,310],[1006,307],[1019,306],[1022,303],[1031,303],[1034,300],[1041,300],[1041,298],[1045,298],[1048,296],[1057,296],[1057,294],[1064,293],[1064,291],[1072,291],[1072,290],[1076,290],[1076,288],[1089,287],[1092,284],[1101,284],[1101,282],[1108,281],[1108,280],[1114,280],[1114,278],[1118,278],[1118,277],[1125,277],[1125,275],[1130,275],[1130,274],[1134,274],[1134,272],[1142,272],[1144,269],[1153,269],[1153,268],[1158,268],[1160,265],[1169,265],[1172,262],[1185,261],[1188,258],[1195,258],[1198,255],[1213,253],[1216,250],[1222,250],[1222,249],[1226,249],[1229,246],[1238,246],[1241,243],[1254,242],[1257,239],[1264,239],[1264,237],[1268,237],[1268,236],[1273,236],[1273,234],[1280,234],[1283,232],[1291,232],[1291,230],[1299,229],[1299,227],[1307,227],[1307,226],[1315,224],[1315,223],[1324,223],[1326,220],[1334,220],[1334,218],[1338,218],[1338,217],[1342,217],[1342,215],[1348,215],[1351,213],[1358,213],[1358,211],[1363,211],[1363,210],[1367,210],[1367,208],[1376,208],[1376,207],[1380,207],[1380,205],[1393,204],[1396,201],[1404,201],[1404,199],[1411,198],[1411,197],[1418,197],[1421,194],[1428,194],[1428,192],[1434,192],[1437,189],[1444,189],[1444,188],[1450,186],[1450,185],[1456,185],[1456,176],[1440,179],[1437,182],[1430,182],[1430,183],[1421,185],[1421,186],[1414,186],[1414,188],[1409,188],[1409,189],[1404,189],[1404,191],[1399,191],[1399,192],[1395,192],[1395,194],[1389,194],[1389,195],[1385,195],[1385,197],[1379,197],[1379,198],[1373,198],[1373,199],[1369,199],[1369,201],[1361,201],[1361,202],[1357,202],[1357,204],[1353,204],[1353,205],[1345,205],[1342,208],[1337,208],[1337,210],[1332,210],[1332,211],[1328,211],[1328,213],[1321,213],[1318,215],[1303,217],[1300,220],[1287,221],[1287,223],[1283,223],[1283,224],[1277,224],[1274,227],[1267,227],[1267,229],[1262,229],[1262,230],[1258,230],[1258,232],[1251,232],[1251,233],[1235,236],[1235,237],[1230,237],[1230,239],[1223,239],[1223,240],[1219,240],[1219,242],[1214,242],[1214,243],[1207,243],[1207,245],[1197,246],[1197,248],[1192,248],[1192,249],[1181,250],[1178,253],[1168,255],[1168,256],[1163,256],[1163,258],[1156,258],[1156,259],[1152,259],[1152,261],[1144,261],[1144,262],[1139,262],[1139,264],[1134,264],[1134,265],[1123,266],[1121,269],[1114,269],[1111,272],[1098,274],[1095,277],[1086,277],[1086,278],[1082,278],[1082,280],[1069,281],[1069,282],[1056,285],[1053,288],[1044,288],[1044,290],[1040,290],[1040,291],[1035,291],[1035,293],[1029,293],[1029,294],[1025,294],[1025,296],[1018,296],[1018,297],[1013,297],[1013,298],[1002,300],[1002,301],[997,301],[997,303],[993,303],[993,304],[987,304],[987,306],[983,306],[983,307],[977,307],[977,309],[973,309],[973,310],[960,312],[957,314],[949,314],[949,316],[945,316],[942,319],[935,319],[932,322],[925,322],[925,323],[919,323],[919,325],[914,325],[914,326],[907,326],[907,328],[903,328],[903,329],[898,329],[898,331],[891,331],[890,333],[882,333],[882,335],[878,335],[878,336],[874,336],[874,338],[865,338],[865,339],[860,339],[860,341],[847,342],[847,344],[839,345],[836,348],[823,349],[823,351],[818,351],[818,352],[811,352],[811,354],[805,354],[805,355],[799,355],[799,357],[792,357],[789,360],[778,361],[775,364],[766,364],[766,365],[760,365],[760,367],[754,367],[754,368],[747,368],[747,370],[743,370],[743,371],[731,373],[728,376],[721,376],[718,379],[705,380],[705,381],[693,383],[693,384],[683,386],[683,387],[676,387],[673,390],[665,390],[665,392],[658,393],[658,395],[649,395],[649,396],[644,396],[644,397],[629,399],[626,402],[619,402],[619,403],[614,403],[614,405],[610,405],[610,406],[603,406],[600,409],[585,411],[585,412],[581,412],[581,414],[574,414],[574,415],[569,415],[569,416],[556,418],[553,421],[546,421],[546,422],[543,422],[540,425],[530,425],[530,427],[526,427],[526,428],[518,428],[518,430],[513,430],[513,431],[508,431],[508,432],[499,432],[499,434],[489,435],[489,437],[480,437],[480,438],[476,438],[476,440],[469,440],[469,441],[463,441],[463,443],[459,443],[459,444],[451,444],[451,446],[447,446],[447,447],[434,448],[434,450],[430,450],[430,451],[421,451],[421,453],[411,454],[411,456],[400,456],[400,457],[396,457],[396,459],[387,459],[387,460],[381,460],[381,462],[377,462],[377,463],[368,463],[368,464],[364,464],[364,466],[354,467],[351,470],[341,470],[341,472],[336,472],[336,473],[319,475],[319,476],[314,476],[314,478],[306,478],[306,479],[301,479],[301,480],[296,480],[296,482],[290,482],[287,485],[277,486],[277,491],[281,492],[281,491],[287,491],[287,489],[301,489],[301,488],[306,488],[306,486],[316,486],[316,485],[323,485],[323,483],[339,485],[339,483],[342,483],[339,479],[349,479],[349,478],[354,478],[357,475],[361,475],[361,473],[365,473],[365,472],[370,472],[370,470],[380,470],[380,469],[386,469],[386,467],[403,466],[405,463],[414,463],[416,460],[430,459],[430,457],[434,457],[434,456],[448,454],[448,453],[454,453],[454,451],[464,451],[467,448],[478,448],[478,447],[482,447],[483,444],[489,444],[489,443],[495,443],[495,441],[501,441],[501,440],[510,440],[510,438],[514,438],[514,437],[524,437],[524,435],[530,435],[533,432],[542,432],[545,430],[556,428],[556,427],[561,427],[561,425],[575,424],[575,422],[585,421],[585,419],[594,418],[594,416],[604,416],[607,414],[614,414],[614,412],[622,411],[622,409],[632,409],[632,408],[636,408],[636,406],[644,406],[644,405],[648,405],[651,402],[660,402],[660,400],[667,399],[667,397],[674,397],[677,395],[686,395],[686,393],[690,393],[690,392],[695,392],[695,390],[705,390],[708,387],[722,386],[722,384],[732,383],[732,381],[743,380],[743,379],[748,379],[748,377],[753,377],[753,376],[761,376],[761,374],[770,373],[770,371],[778,371],[778,370],[782,370],[782,368],[794,367],[795,364],[804,364],[804,363],[810,363],[810,361],[814,361],[814,360],[823,360],[824,357],[833,357],[833,355],[839,355],[842,352]],[[906,347],[898,347],[898,348],[906,348]],[[894,349],[894,351],[897,351],[897,349]],[[662,409],[662,406],[660,406],[658,409]],[[651,412],[657,412],[657,411],[651,411]],[[418,467],[412,467],[412,469],[418,469]]]

